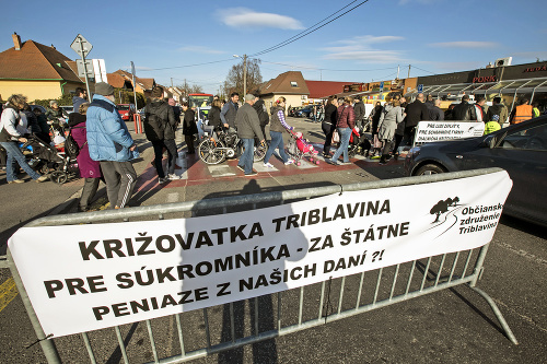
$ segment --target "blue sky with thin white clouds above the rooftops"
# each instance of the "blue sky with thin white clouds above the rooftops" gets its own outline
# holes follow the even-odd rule
[[[80,33],[93,45],[89,57],[105,59],[107,72],[129,70],[133,61],[138,77],[164,85],[186,79],[211,93],[240,61],[233,55],[259,58],[265,81],[288,70],[306,80],[387,81],[397,66],[406,78],[408,64],[410,77],[418,77],[503,57],[513,57],[513,64],[547,59],[545,0],[369,0],[301,39],[256,55],[361,2],[2,1],[0,50],[13,47],[16,32],[23,42],[53,44],[75,59],[70,44]]]

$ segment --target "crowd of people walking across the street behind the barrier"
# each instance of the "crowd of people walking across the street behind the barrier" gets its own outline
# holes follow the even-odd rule
[[[173,99],[164,99],[164,90],[155,86],[151,98],[143,109],[143,126],[147,139],[151,142],[154,158],[152,165],[158,173],[159,184],[176,180],[179,168],[175,133],[182,124],[187,154],[196,150],[195,136],[198,133],[195,110],[188,103],[182,103],[184,117]],[[84,187],[80,199],[80,211],[90,211],[91,201],[96,193],[100,180],[106,184],[106,191],[112,209],[121,209],[132,195],[137,183],[137,173],[131,161],[139,156],[137,145],[131,138],[126,124],[121,120],[114,101],[114,87],[107,83],[97,83],[91,103],[83,89],[77,89],[73,97],[74,113],[67,115],[58,103],[53,101],[46,113],[40,108],[34,110],[22,95],[12,95],[4,105],[0,124],[0,145],[2,165],[7,171],[9,184],[21,184],[16,165],[34,180],[44,181],[47,176],[39,175],[26,162],[21,152],[20,143],[27,141],[26,136],[33,134],[46,143],[56,143],[57,136],[65,136],[63,120],[68,118],[68,128],[79,145],[77,157],[80,177],[84,178]],[[270,108],[269,114],[259,94],[246,94],[240,106],[240,95],[234,92],[228,102],[214,97],[208,114],[208,131],[237,134],[242,141],[243,152],[237,167],[245,176],[255,176],[253,169],[254,150],[257,143],[266,145],[266,126],[269,125],[270,142],[264,158],[264,167],[271,168],[270,158],[275,151],[286,165],[293,164],[284,151],[283,132],[293,131],[286,120],[287,101],[279,97]],[[527,99],[520,102],[511,115],[502,104],[501,97],[494,97],[492,105],[485,108],[486,99],[478,96],[475,103],[464,95],[457,105],[451,105],[447,110],[440,108],[440,99],[420,93],[411,103],[405,97],[395,96],[382,105],[376,102],[370,115],[361,99],[336,96],[328,97],[326,104],[314,110],[314,117],[319,118],[325,133],[323,156],[327,163],[344,165],[350,163],[348,146],[352,134],[364,134],[370,126],[371,140],[366,155],[380,158],[380,164],[386,164],[398,155],[399,145],[406,141],[411,143],[416,128],[424,120],[462,120],[484,121],[485,133],[499,130],[510,120],[512,124],[539,116],[537,105],[529,105]],[[290,106],[289,106],[290,108]],[[294,133],[293,133],[294,134]],[[331,154],[333,145],[337,144]],[[166,171],[163,167],[163,155],[167,153]],[[341,161],[339,158],[341,157]]]

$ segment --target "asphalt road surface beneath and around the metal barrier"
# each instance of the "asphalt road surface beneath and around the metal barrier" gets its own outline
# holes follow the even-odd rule
[[[302,119],[289,119],[289,124],[303,131],[312,142],[321,142],[323,133],[318,124]],[[181,160],[183,169],[178,171],[184,178],[160,187],[150,165],[151,148],[142,136],[135,137],[143,153],[136,163],[140,177],[131,201],[133,206],[404,176],[400,162],[379,166],[377,163],[356,160],[353,165],[338,168],[323,162],[313,168],[286,168],[279,161],[274,161],[276,171],[259,171],[256,178],[249,179],[234,172],[234,162],[209,169],[207,174],[201,162],[185,156]],[[5,175],[0,174],[0,255],[4,254],[8,237],[26,222],[42,215],[75,212],[75,198],[81,187],[82,183],[77,179],[62,186],[50,181],[7,185]],[[100,199],[96,207],[103,202],[104,198]],[[27,349],[36,338],[10,277],[8,269],[0,269],[0,362],[45,363],[39,344]],[[546,277],[545,230],[502,218],[478,286],[494,300],[519,345],[512,344],[501,333],[494,315],[480,296],[458,286],[260,344],[198,359],[195,363],[545,363]],[[354,279],[348,280],[349,292],[356,290],[357,283]],[[316,302],[316,290],[314,286],[306,289],[305,300]],[[287,308],[289,321],[296,317],[295,303],[298,293],[288,293],[283,309]],[[277,298],[260,297],[258,305],[260,318],[264,318],[260,330],[268,329],[275,321],[271,313],[276,312]],[[248,333],[254,302],[240,303],[235,308],[238,330]],[[209,309],[214,342],[225,337],[224,326],[220,324],[225,314],[225,307]],[[304,313],[306,315],[313,316],[315,312]],[[183,326],[189,332],[185,337],[187,350],[203,343],[201,321],[201,312],[183,315]],[[161,348],[161,357],[179,352],[173,318],[153,320],[152,329],[156,345]],[[130,350],[131,362],[153,361],[144,322],[124,326],[121,334]],[[92,332],[90,338],[98,363],[124,362],[113,329]],[[84,362],[85,349],[80,337],[60,338],[56,344],[63,362]]]

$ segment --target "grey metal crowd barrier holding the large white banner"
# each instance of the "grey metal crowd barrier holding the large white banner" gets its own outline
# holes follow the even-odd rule
[[[501,169],[486,168],[344,186],[336,185],[213,198],[200,201],[140,207],[116,211],[55,215],[38,219],[26,226],[83,224],[90,223],[90,221],[107,223],[112,221],[129,221],[129,219],[137,220],[142,218],[147,220],[163,220],[171,213],[191,213],[191,215],[219,214],[230,212],[229,207],[240,209],[249,207],[251,209],[257,209],[266,206],[283,204],[303,199],[339,193],[341,191],[427,184],[473,177],[499,171]],[[271,341],[275,338],[288,333],[326,325],[335,320],[461,284],[466,284],[487,301],[501,324],[507,337],[516,344],[517,341],[496,303],[487,293],[476,286],[482,273],[482,263],[488,251],[488,246],[489,244],[477,249],[429,257],[360,274],[347,275],[331,281],[324,281],[322,283],[302,286],[274,295],[251,298],[248,300],[247,315],[244,314],[245,303],[240,301],[223,306],[214,306],[203,308],[202,310],[173,315],[172,317],[132,324],[125,337],[121,333],[123,328],[115,327],[114,332],[117,342],[116,340],[108,341],[107,339],[108,336],[113,337],[112,328],[82,332],[82,347],[85,347],[86,351],[80,350],[79,354],[85,356],[84,353],[86,353],[91,363],[97,363],[96,351],[103,349],[104,345],[109,345],[112,347],[110,349],[117,353],[117,360],[123,357],[125,363],[129,363],[130,357],[131,362],[139,363],[182,363],[212,354],[225,354],[226,351],[234,349],[242,350],[242,347],[247,344],[257,344],[267,340]],[[74,350],[73,347],[78,344],[79,340],[71,337],[61,337],[57,339],[48,339],[45,337],[28,296],[26,295],[18,269],[12,263],[9,250],[8,257],[18,290],[28,312],[28,317],[37,334],[37,341],[40,343],[48,363],[61,363],[62,353],[57,347],[69,345],[70,354],[73,355],[74,352],[78,351]],[[309,300],[305,300],[305,297]],[[154,324],[156,320],[161,320],[161,322]],[[166,322],[166,320],[168,322]],[[265,324],[264,321],[267,322]],[[137,344],[131,342],[133,340],[131,337],[136,334],[136,331],[139,331],[138,325],[141,325],[141,322],[143,322],[147,328],[147,340],[151,350],[151,353],[148,352],[148,355],[137,354],[144,338],[139,340],[140,345],[139,342]],[[222,325],[220,322],[222,322]],[[172,333],[176,332],[176,339],[167,334],[166,338],[171,338],[165,339],[171,340],[167,345],[163,342],[163,339],[158,340],[158,338],[165,336],[165,332],[162,332],[162,330],[170,325],[172,326],[170,329]],[[126,327],[127,326],[129,325],[126,325]],[[144,330],[142,329],[141,331]],[[202,334],[198,336],[198,333],[201,332]],[[143,332],[140,334],[144,336]],[[60,344],[56,344],[58,341],[60,341]],[[136,350],[136,352],[132,353],[130,349]],[[177,351],[177,353],[173,353],[173,351]],[[168,355],[160,357],[161,353],[167,353]],[[83,362],[83,359],[78,362]]]

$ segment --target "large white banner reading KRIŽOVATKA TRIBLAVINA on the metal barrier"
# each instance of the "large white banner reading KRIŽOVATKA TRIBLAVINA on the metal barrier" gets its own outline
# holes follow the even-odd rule
[[[499,172],[214,216],[23,227],[9,248],[59,337],[482,246],[511,186]]]

